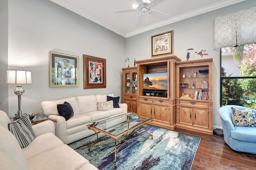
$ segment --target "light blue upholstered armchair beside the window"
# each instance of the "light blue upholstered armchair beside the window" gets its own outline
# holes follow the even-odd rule
[[[226,144],[233,150],[256,154],[256,127],[234,127],[231,107],[246,109],[237,105],[226,105],[219,109]],[[256,114],[256,110],[254,113]]]

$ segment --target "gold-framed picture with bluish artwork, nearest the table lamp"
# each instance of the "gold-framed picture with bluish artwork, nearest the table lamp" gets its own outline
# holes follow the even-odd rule
[[[50,51],[50,87],[78,87],[79,57]]]

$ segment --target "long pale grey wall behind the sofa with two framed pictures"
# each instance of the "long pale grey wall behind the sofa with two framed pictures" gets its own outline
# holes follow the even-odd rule
[[[8,0],[8,69],[32,71],[32,84],[23,85],[22,113],[42,114],[41,101],[71,96],[121,96],[125,38],[48,0]],[[49,87],[50,51],[79,57],[79,87]],[[83,89],[82,55],[106,59],[106,87]],[[6,75],[5,75],[6,77]],[[18,110],[8,85],[9,117]]]

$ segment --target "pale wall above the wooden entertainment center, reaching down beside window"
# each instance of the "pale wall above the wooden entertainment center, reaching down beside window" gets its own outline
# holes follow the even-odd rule
[[[189,60],[200,59],[200,56],[195,54],[195,52],[202,49],[206,50],[205,53],[209,53],[209,55],[205,55],[204,58],[213,58],[214,63],[213,125],[214,128],[222,127],[218,115],[218,109],[220,108],[220,50],[213,49],[214,18],[252,6],[256,6],[256,1],[246,0],[126,38],[126,57],[136,58],[136,60],[151,58],[151,36],[171,30],[174,30],[174,55],[178,56],[182,61],[186,60],[186,53],[189,48],[194,49],[191,51]]]

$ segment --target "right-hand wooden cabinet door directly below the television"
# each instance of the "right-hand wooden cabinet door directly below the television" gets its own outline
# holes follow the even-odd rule
[[[168,123],[169,107],[164,105],[154,105],[154,120]]]

